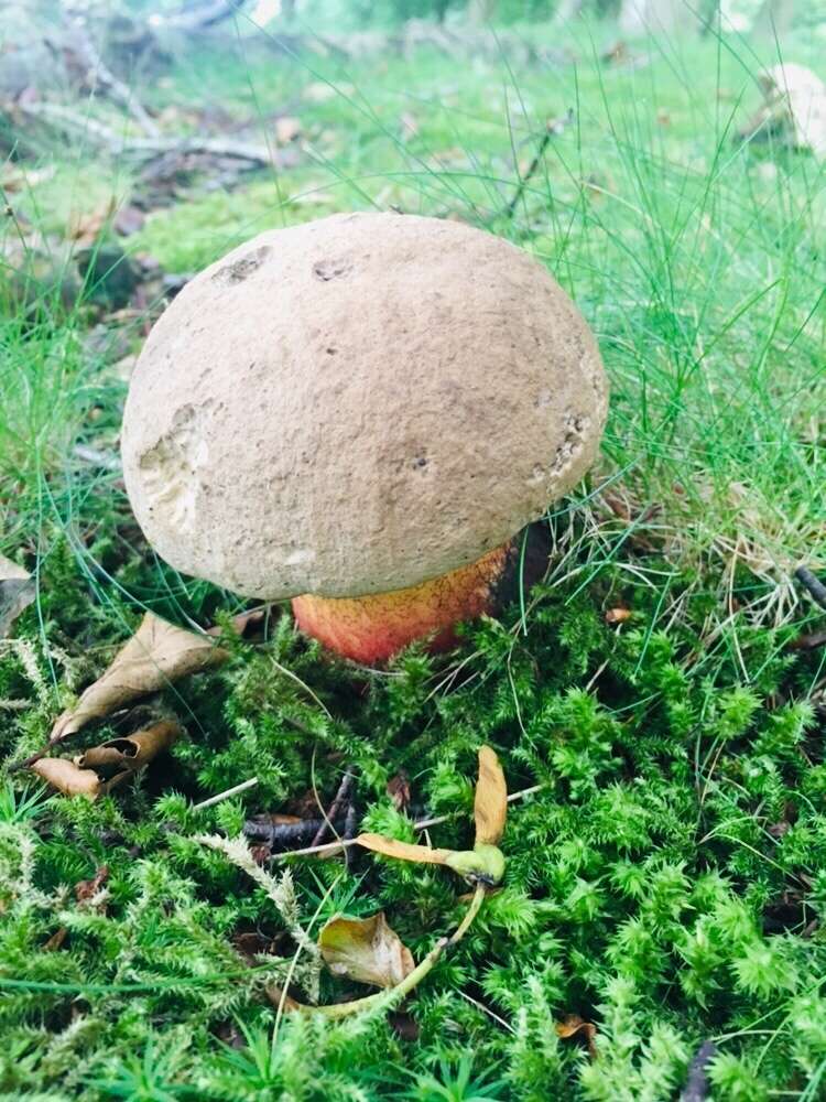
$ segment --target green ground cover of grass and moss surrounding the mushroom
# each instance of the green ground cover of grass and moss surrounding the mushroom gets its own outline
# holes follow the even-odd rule
[[[791,573],[826,569],[826,181],[805,153],[736,140],[776,43],[641,44],[651,56],[633,67],[599,60],[612,39],[568,31],[575,60],[514,69],[427,51],[274,65],[242,37],[148,89],[159,108],[221,105],[259,137],[273,110],[297,116],[303,153],[157,210],[135,252],[192,271],[337,209],[466,218],[572,293],[611,414],[598,468],[548,519],[547,584],[455,656],[414,650],[363,673],[283,617],[267,645],[166,695],[189,738],[145,784],[87,807],[9,781],[3,1096],[655,1102],[677,1095],[708,1038],[715,1099],[818,1096],[824,651],[789,644],[822,623]],[[782,54],[812,63],[817,42]],[[508,217],[520,165],[569,109]],[[173,125],[198,121],[178,109]],[[83,142],[52,159],[53,177],[13,199],[50,234],[130,184]],[[42,742],[143,608],[205,624],[238,605],[154,560],[117,471],[84,458],[115,450],[126,383],[105,346],[89,350],[83,295],[32,298],[24,313],[9,296],[0,324],[0,552],[39,581],[0,644],[8,759]],[[142,318],[124,324],[138,346]],[[631,613],[619,628],[604,619],[615,606]],[[284,892],[311,932],[381,907],[421,958],[455,923],[461,886],[372,858],[347,874],[296,861],[268,894],[194,836],[237,834],[244,814],[297,809],[314,788],[328,801],[352,764],[371,829],[410,835],[385,795],[404,769],[416,803],[450,815],[434,844],[464,844],[483,739],[512,790],[544,787],[512,808],[504,889],[412,1003],[417,1038],[376,1020],[274,1025],[265,988],[294,949]],[[241,800],[193,812],[253,775]],[[90,908],[70,888],[104,862],[108,898]],[[254,930],[272,951],[250,963],[233,939]],[[567,1014],[596,1023],[598,1060],[557,1037]]]

